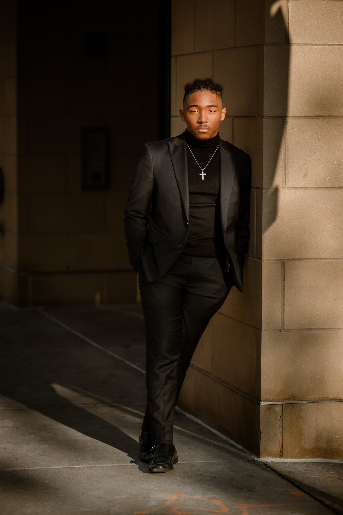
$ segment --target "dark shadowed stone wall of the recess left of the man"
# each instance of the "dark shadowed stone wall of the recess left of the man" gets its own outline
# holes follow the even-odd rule
[[[123,210],[158,139],[157,3],[20,1],[17,25],[18,261],[0,255],[20,274],[16,303],[134,302]],[[84,36],[98,33],[106,55],[87,55]],[[82,127],[110,129],[109,191],[82,191]]]

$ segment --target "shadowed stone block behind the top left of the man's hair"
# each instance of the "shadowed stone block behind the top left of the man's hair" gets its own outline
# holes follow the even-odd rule
[[[177,96],[176,111],[182,109],[184,85],[192,82],[194,79],[203,79],[212,77],[213,71],[213,54],[205,52],[203,54],[193,54],[190,56],[181,56],[177,59]]]

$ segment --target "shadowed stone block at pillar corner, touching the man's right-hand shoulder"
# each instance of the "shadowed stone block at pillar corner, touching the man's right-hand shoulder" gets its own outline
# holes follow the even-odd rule
[[[263,185],[263,129],[262,118],[234,118],[233,143],[251,157],[251,185]]]

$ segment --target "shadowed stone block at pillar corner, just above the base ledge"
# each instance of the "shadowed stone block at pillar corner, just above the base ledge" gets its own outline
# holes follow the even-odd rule
[[[212,328],[212,373],[254,397],[255,329],[217,313]]]

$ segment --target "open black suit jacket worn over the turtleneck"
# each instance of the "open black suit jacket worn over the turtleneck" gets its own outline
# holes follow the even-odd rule
[[[243,150],[220,140],[220,220],[226,266],[242,291],[249,242],[251,160]],[[136,167],[124,225],[131,265],[147,282],[159,279],[186,242],[190,199],[184,133],[144,146]],[[141,271],[140,268],[140,271]]]

